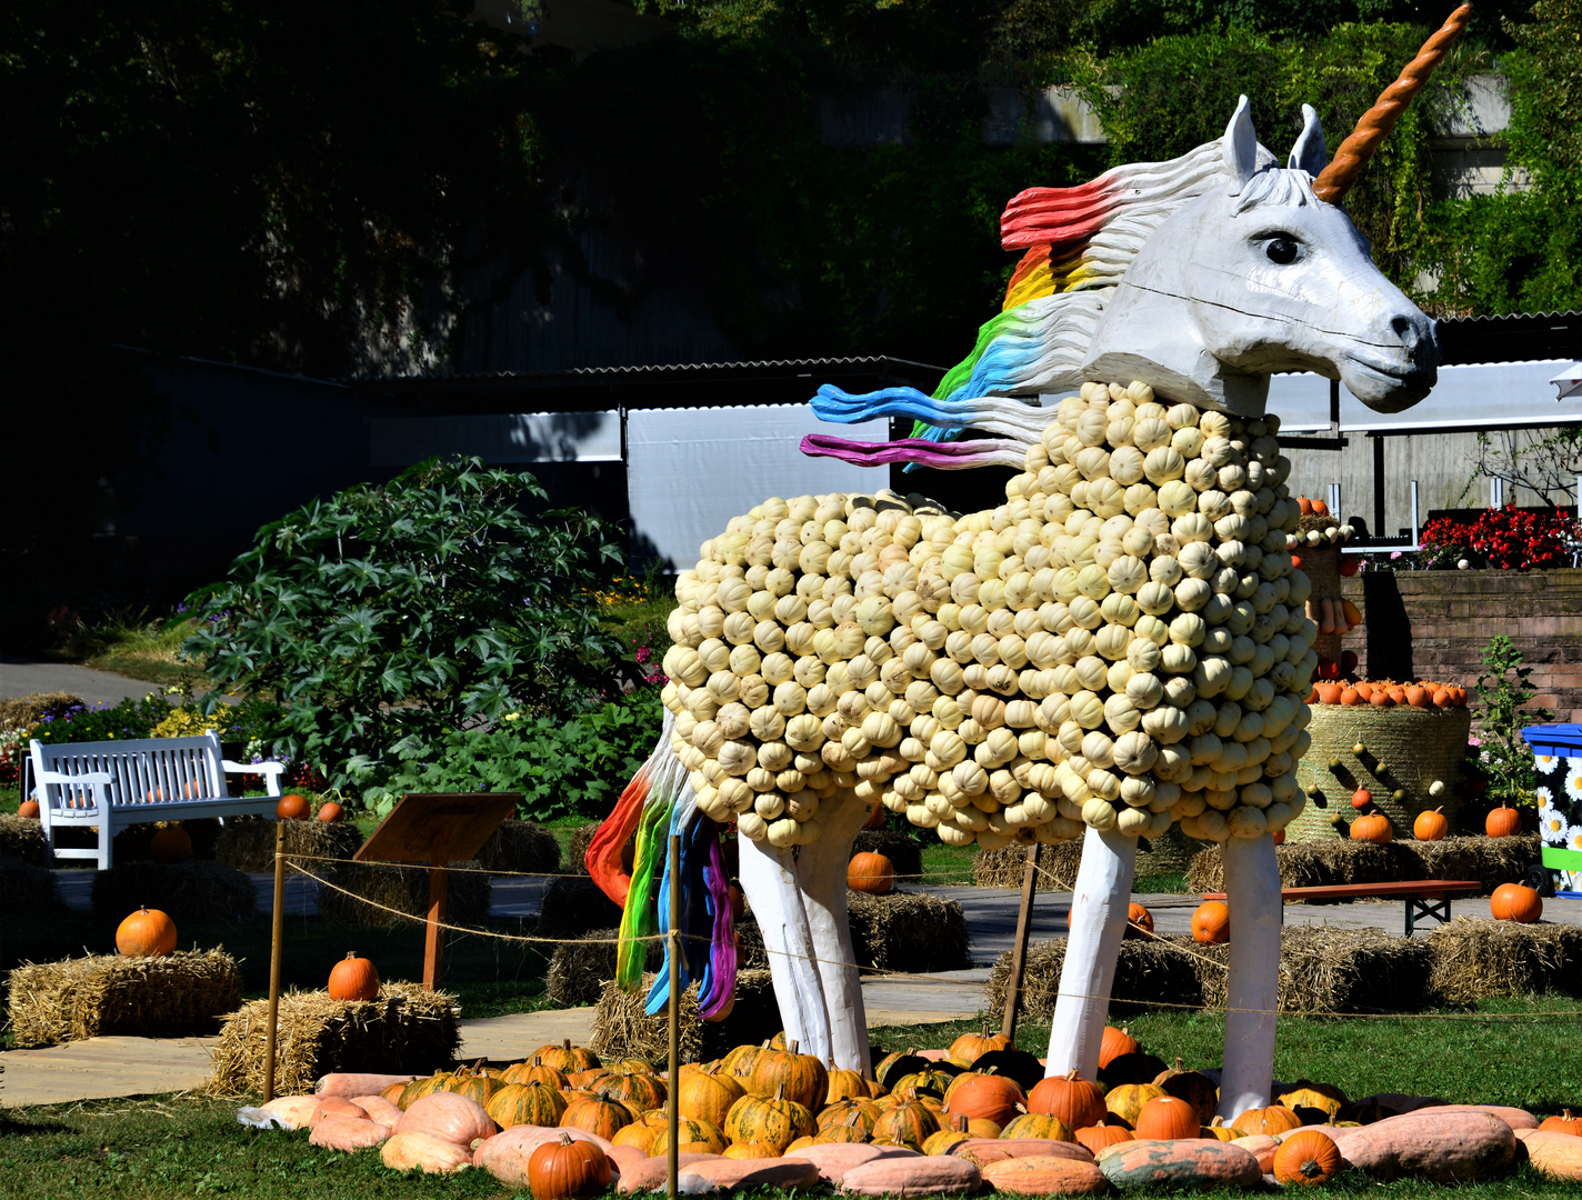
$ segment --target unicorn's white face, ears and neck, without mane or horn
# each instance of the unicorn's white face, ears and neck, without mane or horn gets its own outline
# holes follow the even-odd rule
[[[1269,375],[1338,377],[1378,412],[1435,383],[1430,321],[1368,256],[1346,214],[1313,193],[1324,133],[1311,108],[1285,168],[1242,97],[1220,139],[1223,187],[1153,231],[1115,285],[1082,361],[1088,378],[1141,378],[1198,405],[1256,416]]]

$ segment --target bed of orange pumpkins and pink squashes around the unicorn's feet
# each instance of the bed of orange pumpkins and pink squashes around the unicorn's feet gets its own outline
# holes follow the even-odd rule
[[[1582,1119],[1493,1105],[1368,1097],[1299,1081],[1278,1103],[1215,1116],[1212,1078],[1107,1027],[1099,1077],[1043,1077],[1003,1037],[903,1051],[876,1080],[832,1070],[783,1039],[687,1064],[674,1089],[642,1059],[600,1064],[570,1042],[503,1070],[418,1080],[326,1077],[310,1097],[266,1108],[313,1145],[378,1146],[400,1170],[478,1167],[536,1200],[663,1187],[669,1103],[683,1191],[837,1184],[857,1195],[1093,1194],[1118,1187],[1316,1184],[1348,1167],[1381,1178],[1473,1183],[1520,1157],[1582,1179]],[[381,1084],[378,1092],[372,1092]],[[1525,1143],[1525,1151],[1519,1145]]]

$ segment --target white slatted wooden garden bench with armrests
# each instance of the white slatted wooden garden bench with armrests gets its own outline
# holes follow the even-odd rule
[[[111,866],[112,842],[128,825],[198,817],[272,817],[283,763],[233,763],[220,755],[220,738],[149,741],[32,742],[38,818],[55,858],[97,858]],[[242,799],[226,774],[263,776],[267,796]],[[98,849],[55,845],[60,830],[98,830]]]

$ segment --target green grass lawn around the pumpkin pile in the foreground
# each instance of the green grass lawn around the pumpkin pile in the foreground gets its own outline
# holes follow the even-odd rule
[[[1558,1111],[1582,1096],[1573,1054],[1576,1018],[1566,997],[1527,997],[1476,1010],[1405,1020],[1285,1018],[1275,1070],[1281,1078],[1337,1083],[1351,1096],[1375,1091],[1432,1094],[1452,1102],[1516,1103]],[[1454,1018],[1454,1020],[1446,1020]],[[1190,1065],[1220,1061],[1218,1016],[1147,1013],[1131,1020],[1147,1051]],[[875,1029],[880,1046],[944,1046],[981,1021]],[[1043,1051],[1047,1026],[1025,1024],[1017,1043]],[[520,1197],[481,1172],[403,1176],[378,1154],[339,1154],[307,1145],[305,1134],[259,1132],[236,1122],[236,1102],[195,1097],[93,1100],[0,1111],[0,1197],[234,1195],[247,1200],[375,1200],[383,1197]],[[1378,1184],[1342,1176],[1319,1195],[1370,1200],[1561,1200],[1574,1184],[1550,1183],[1531,1170],[1471,1187],[1413,1181]],[[1152,1195],[1152,1194],[1145,1194]],[[1247,1192],[1209,1192],[1210,1200]]]

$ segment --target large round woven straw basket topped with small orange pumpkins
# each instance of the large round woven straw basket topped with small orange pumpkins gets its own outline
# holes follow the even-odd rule
[[[1307,809],[1286,828],[1292,842],[1343,837],[1356,815],[1351,793],[1365,787],[1373,806],[1389,817],[1397,837],[1411,836],[1424,809],[1444,809],[1451,830],[1460,828],[1455,774],[1467,757],[1471,712],[1465,708],[1373,708],[1372,704],[1313,704],[1307,731],[1313,746],[1297,763],[1297,782],[1308,788]],[[1361,742],[1364,752],[1353,754]],[[1380,768],[1386,768],[1381,774]],[[1429,787],[1444,784],[1443,796]],[[1318,788],[1321,799],[1311,798]],[[1403,799],[1394,799],[1402,792]],[[1340,815],[1340,823],[1330,820]]]

